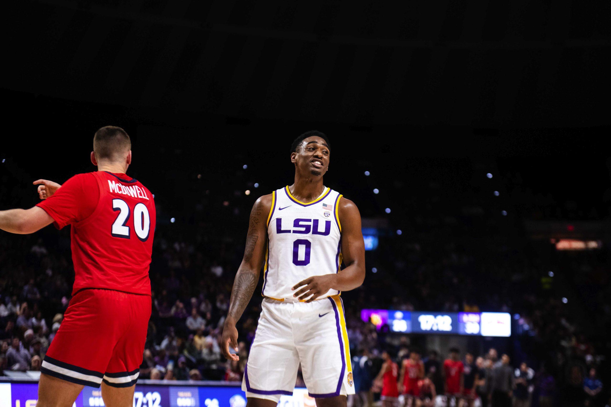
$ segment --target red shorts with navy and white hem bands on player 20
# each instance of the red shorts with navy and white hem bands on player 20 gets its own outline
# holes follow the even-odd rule
[[[142,363],[151,297],[85,289],[70,301],[40,372],[100,387],[130,387]]]

